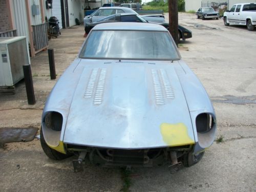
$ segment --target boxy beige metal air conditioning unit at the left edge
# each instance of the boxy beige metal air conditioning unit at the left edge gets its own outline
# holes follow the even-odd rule
[[[0,88],[12,87],[23,79],[23,65],[28,64],[26,36],[0,37]]]

